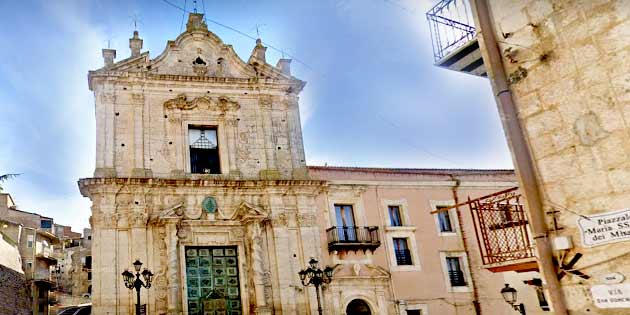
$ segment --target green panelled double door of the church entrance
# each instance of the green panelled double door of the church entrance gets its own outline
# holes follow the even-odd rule
[[[236,246],[186,247],[188,314],[243,313]]]

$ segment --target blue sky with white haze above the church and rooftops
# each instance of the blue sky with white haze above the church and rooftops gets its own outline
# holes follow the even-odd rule
[[[169,0],[192,10],[192,0]],[[184,3],[186,1],[186,3]],[[511,168],[487,79],[437,68],[429,0],[197,1],[207,17],[283,49],[307,86],[301,115],[310,165]],[[132,16],[159,55],[182,28],[163,0],[0,1],[0,173],[21,209],[75,230],[90,202],[77,180],[94,170],[87,72],[110,42],[129,55]],[[254,42],[208,22],[247,60]],[[281,54],[268,49],[275,64]]]

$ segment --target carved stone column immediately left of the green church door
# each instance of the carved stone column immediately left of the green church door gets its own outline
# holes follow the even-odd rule
[[[168,278],[168,314],[179,314],[181,311],[181,298],[179,297],[179,254],[177,245],[179,238],[177,236],[177,226],[174,222],[170,222],[166,226],[166,234],[168,238],[167,256],[168,266],[166,276]]]

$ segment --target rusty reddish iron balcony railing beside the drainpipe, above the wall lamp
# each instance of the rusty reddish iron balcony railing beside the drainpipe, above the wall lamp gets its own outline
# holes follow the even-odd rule
[[[484,267],[493,272],[538,269],[529,224],[518,188],[442,208],[468,205]]]

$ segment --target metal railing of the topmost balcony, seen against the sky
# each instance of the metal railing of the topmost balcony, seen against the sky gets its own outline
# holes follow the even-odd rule
[[[475,38],[472,15],[468,0],[441,0],[426,13],[436,62]]]

